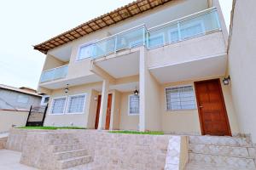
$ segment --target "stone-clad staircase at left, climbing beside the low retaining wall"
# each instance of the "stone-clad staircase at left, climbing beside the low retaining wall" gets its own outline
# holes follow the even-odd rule
[[[56,169],[76,167],[92,161],[73,133],[49,133],[48,146],[54,155]]]

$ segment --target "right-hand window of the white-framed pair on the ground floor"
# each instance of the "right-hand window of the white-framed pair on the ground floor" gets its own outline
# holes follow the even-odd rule
[[[69,96],[67,104],[67,113],[83,113],[85,98],[85,94]]]

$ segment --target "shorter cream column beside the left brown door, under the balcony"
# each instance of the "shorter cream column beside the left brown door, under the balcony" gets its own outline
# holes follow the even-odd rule
[[[98,130],[105,129],[106,113],[107,113],[107,109],[108,109],[108,87],[109,87],[109,81],[103,80],[102,101],[101,101]]]

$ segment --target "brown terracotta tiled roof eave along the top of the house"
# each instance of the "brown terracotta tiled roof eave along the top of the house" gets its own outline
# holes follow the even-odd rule
[[[117,8],[107,14],[102,14],[93,20],[89,20],[69,31],[52,37],[49,40],[34,46],[34,49],[47,54],[49,49],[61,46],[64,43],[71,42],[79,37],[83,37],[91,32],[100,30],[106,26],[111,26],[119,21],[128,19],[136,14],[141,14],[149,9],[168,3],[172,0],[137,0],[121,8]]]

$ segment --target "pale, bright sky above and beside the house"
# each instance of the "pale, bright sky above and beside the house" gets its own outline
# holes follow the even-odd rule
[[[34,50],[32,45],[132,1],[1,1],[0,83],[37,88],[45,55]],[[219,1],[229,27],[232,0]]]

